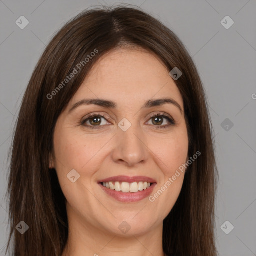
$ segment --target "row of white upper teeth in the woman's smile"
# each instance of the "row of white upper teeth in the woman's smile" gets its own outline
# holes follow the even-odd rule
[[[136,193],[138,191],[142,191],[143,189],[147,189],[148,187],[150,187],[151,183],[148,182],[132,182],[132,183],[128,183],[128,182],[102,182],[104,187],[110,188],[111,190],[115,190],[115,191],[122,191],[122,192],[131,192],[131,193]]]

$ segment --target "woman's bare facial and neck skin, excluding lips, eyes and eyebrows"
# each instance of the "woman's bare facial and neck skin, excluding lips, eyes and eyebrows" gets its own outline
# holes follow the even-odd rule
[[[178,198],[184,173],[154,202],[148,197],[132,203],[117,201],[97,181],[117,175],[148,176],[157,182],[153,195],[187,161],[183,112],[169,103],[142,108],[146,100],[166,97],[184,109],[174,80],[157,56],[139,48],[115,49],[94,64],[59,116],[49,167],[56,169],[67,200],[69,236],[62,256],[164,255],[163,219]],[[112,100],[117,107],[90,104],[68,112],[86,98]],[[158,112],[169,114],[176,124],[157,129],[168,124],[165,118],[153,122],[150,114]],[[90,113],[104,113],[110,119],[101,117],[100,129],[91,129],[81,124]],[[131,123],[125,132],[118,127],[123,118]],[[91,121],[86,124],[95,127]],[[80,175],[74,183],[67,178],[72,169]],[[123,221],[130,226],[125,234],[118,228]]]

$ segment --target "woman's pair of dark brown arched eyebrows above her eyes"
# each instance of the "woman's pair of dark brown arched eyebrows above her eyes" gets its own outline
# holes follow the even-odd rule
[[[98,106],[102,106],[102,107],[106,107],[106,108],[116,108],[116,106],[117,106],[117,104],[115,102],[106,100],[106,99],[101,99],[101,98],[82,99],[82,100],[76,102],[75,104],[73,104],[68,112],[71,112],[78,106],[90,105],[90,104],[98,105]],[[154,106],[160,106],[163,104],[173,104],[180,110],[181,113],[183,113],[181,106],[178,104],[178,102],[176,100],[174,100],[172,98],[149,99],[144,103],[142,108],[150,108],[150,107],[154,107]]]

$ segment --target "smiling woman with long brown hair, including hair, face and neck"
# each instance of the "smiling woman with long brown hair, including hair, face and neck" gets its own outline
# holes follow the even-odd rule
[[[134,8],[84,11],[50,41],[23,97],[8,248],[13,238],[15,256],[216,255],[216,174],[182,42]]]

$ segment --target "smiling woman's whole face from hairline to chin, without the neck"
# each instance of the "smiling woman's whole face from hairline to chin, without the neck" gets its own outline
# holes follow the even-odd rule
[[[76,104],[88,99],[115,107]],[[153,103],[158,99],[172,103]],[[183,109],[174,80],[151,53],[126,48],[101,57],[54,130],[49,167],[56,169],[69,220],[115,235],[162,227],[184,178],[178,170],[188,153]]]

